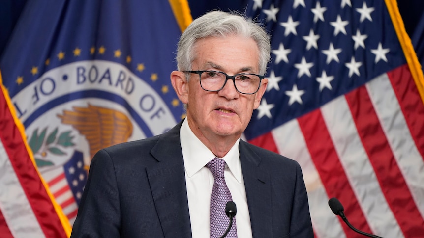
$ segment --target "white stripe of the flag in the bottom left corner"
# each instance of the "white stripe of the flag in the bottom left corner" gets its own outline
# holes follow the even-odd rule
[[[14,237],[45,237],[1,141],[0,210]]]

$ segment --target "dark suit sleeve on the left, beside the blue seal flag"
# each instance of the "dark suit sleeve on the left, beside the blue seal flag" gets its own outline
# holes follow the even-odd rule
[[[100,150],[91,161],[71,238],[120,237],[120,212],[114,165],[109,154]]]

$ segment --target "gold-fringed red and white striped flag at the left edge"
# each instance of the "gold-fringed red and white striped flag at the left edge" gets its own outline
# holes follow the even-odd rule
[[[71,227],[35,167],[1,73],[0,118],[0,237],[69,237]]]

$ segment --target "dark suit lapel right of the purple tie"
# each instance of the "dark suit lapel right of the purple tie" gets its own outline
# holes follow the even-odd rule
[[[239,150],[253,237],[272,237],[270,176],[247,142],[241,140]]]

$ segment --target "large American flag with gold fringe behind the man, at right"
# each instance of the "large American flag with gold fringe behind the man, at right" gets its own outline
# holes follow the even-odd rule
[[[424,237],[423,76],[394,0],[253,0],[268,88],[245,132],[303,169],[315,236]],[[411,73],[412,72],[412,73]]]

